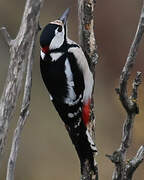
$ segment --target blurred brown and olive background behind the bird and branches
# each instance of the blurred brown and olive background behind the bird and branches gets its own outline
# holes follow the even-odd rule
[[[0,0],[0,27],[6,26],[15,38],[25,0]],[[57,19],[63,11],[71,8],[69,16],[69,36],[78,42],[78,21],[76,0],[46,0],[41,9],[40,24]],[[126,113],[123,110],[114,88],[118,87],[119,76],[126,60],[130,44],[133,40],[142,0],[100,0],[95,8],[95,35],[98,45],[99,61],[96,65],[95,115],[96,144],[99,150],[97,161],[100,180],[110,180],[113,164],[105,157],[120,145],[122,124]],[[56,113],[46,88],[41,79],[39,69],[39,37],[35,50],[33,66],[33,86],[31,113],[24,127],[21,145],[16,164],[15,180],[78,180],[80,179],[79,161],[67,135],[62,121]],[[144,70],[144,40],[137,55],[137,61],[129,89],[136,71]],[[8,48],[0,35],[0,93],[9,64]],[[13,130],[16,126],[20,102],[11,121],[7,145],[3,158],[0,179],[4,180],[10,153]],[[135,155],[141,144],[144,144],[144,84],[139,88],[140,114],[136,116],[132,145],[128,151],[128,159]],[[135,173],[134,180],[144,179],[144,163]]]

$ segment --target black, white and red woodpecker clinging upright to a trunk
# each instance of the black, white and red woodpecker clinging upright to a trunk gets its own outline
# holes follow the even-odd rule
[[[69,9],[44,27],[40,36],[40,69],[81,163],[89,160],[93,166],[97,149],[87,126],[94,80],[81,47],[67,36],[68,14]]]

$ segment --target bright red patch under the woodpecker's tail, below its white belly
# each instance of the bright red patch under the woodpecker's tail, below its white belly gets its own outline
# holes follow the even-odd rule
[[[91,101],[89,99],[88,102],[84,104],[82,108],[82,118],[86,126],[90,121],[90,103]]]

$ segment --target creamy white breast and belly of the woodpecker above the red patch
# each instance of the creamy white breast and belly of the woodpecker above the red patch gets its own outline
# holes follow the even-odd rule
[[[85,83],[83,101],[88,102],[88,100],[91,99],[94,81],[93,81],[93,75],[89,69],[87,59],[81,48],[72,47],[69,48],[68,52],[73,53],[73,55],[77,60],[78,66],[83,72],[84,83]]]

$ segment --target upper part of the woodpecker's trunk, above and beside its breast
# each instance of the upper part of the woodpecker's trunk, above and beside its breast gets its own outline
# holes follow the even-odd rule
[[[95,64],[98,60],[94,35],[94,5],[95,1],[93,0],[78,1],[79,42],[89,60],[92,71],[95,71]]]

